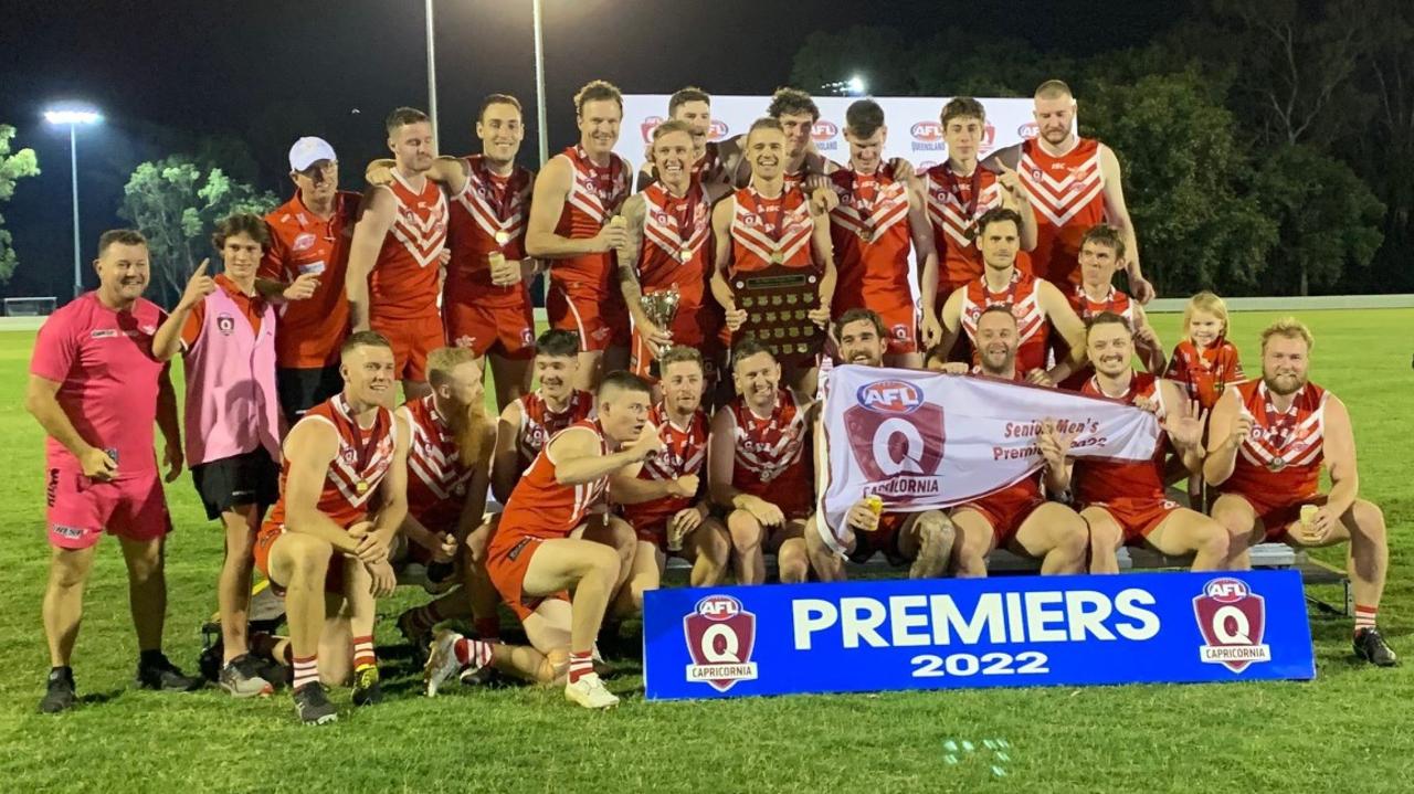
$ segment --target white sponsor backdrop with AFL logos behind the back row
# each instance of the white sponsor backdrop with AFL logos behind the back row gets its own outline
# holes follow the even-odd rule
[[[635,165],[643,162],[653,127],[667,117],[667,97],[666,93],[624,96],[624,129],[615,147],[619,155]],[[820,122],[814,126],[814,146],[820,154],[836,162],[846,162],[850,158],[850,147],[844,141],[844,110],[857,99],[860,97],[814,97],[820,106]],[[919,170],[947,158],[947,144],[943,143],[937,116],[950,97],[874,96],[871,99],[884,107],[884,120],[888,124],[885,157],[902,157]],[[987,109],[981,157],[1035,136],[1031,99],[980,99],[980,102]],[[713,96],[713,140],[745,133],[752,122],[766,114],[768,105],[771,105],[769,96]]]

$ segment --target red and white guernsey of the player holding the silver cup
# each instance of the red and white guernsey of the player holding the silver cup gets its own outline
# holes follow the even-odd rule
[[[711,246],[711,206],[696,179],[687,195],[674,198],[662,182],[643,191],[643,244],[638,254],[638,280],[643,294],[677,285],[677,315],[687,316],[703,304]]]

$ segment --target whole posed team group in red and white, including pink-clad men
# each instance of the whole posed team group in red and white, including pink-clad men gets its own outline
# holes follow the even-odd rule
[[[1263,540],[1349,543],[1355,650],[1394,664],[1376,629],[1384,520],[1359,499],[1343,404],[1307,380],[1311,332],[1271,325],[1246,379],[1223,301],[1202,292],[1165,356],[1118,161],[1075,134],[1065,83],[1036,90],[1036,137],[986,162],[981,103],[950,100],[947,161],[921,172],[881,157],[888,129],[867,99],[836,164],[812,147],[819,110],[803,92],[778,90],[747,134],[714,143],[710,96],[683,89],[636,175],[612,151],[618,89],[594,81],[574,103],[580,141],[540,174],[515,162],[525,127],[508,95],[482,103],[469,157],[437,157],[427,116],[395,110],[392,158],[368,167],[363,195],[338,188],[328,143],[300,138],[294,195],[221,222],[222,273],[202,263],[170,314],[141,298],[143,236],[100,237],[99,288],[45,322],[27,394],[48,434],[42,711],[75,704],[69,660],[105,531],[129,568],[137,684],[202,685],[161,651],[161,480],[184,465],[225,528],[219,685],[256,697],[287,680],[308,723],[337,718],[327,684],[352,684],[356,705],[382,698],[375,603],[410,561],[445,591],[397,619],[427,648],[428,695],[496,670],[617,704],[595,640],[641,609],[669,555],[693,585],[754,585],[766,554],[779,581],[803,582],[878,552],[921,578],[986,575],[997,548],[1072,574],[1117,571],[1124,544],[1241,569]],[[782,362],[741,333],[732,277],[769,267],[816,277],[819,359]],[[536,338],[539,273],[551,329]],[[665,290],[679,307],[659,325],[642,298]],[[182,421],[165,366],[178,355]],[[1075,437],[1038,417],[1035,478],[947,511],[861,494],[841,555],[814,526],[831,363],[1126,401],[1159,417],[1158,452],[1076,461]],[[1191,507],[1167,497],[1184,479]],[[249,632],[253,569],[284,595],[287,637]],[[502,603],[527,644],[499,640]],[[475,632],[445,629],[454,619]]]

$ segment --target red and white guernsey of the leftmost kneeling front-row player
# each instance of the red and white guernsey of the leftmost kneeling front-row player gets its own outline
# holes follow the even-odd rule
[[[339,449],[324,475],[324,487],[320,489],[318,510],[346,530],[368,517],[369,502],[393,465],[393,448],[397,441],[393,411],[379,408],[373,427],[365,429],[349,411],[348,400],[342,394],[335,394],[305,411],[296,427],[304,422],[324,422],[339,434]],[[288,478],[290,458],[286,458],[280,466],[280,500],[266,519],[260,530],[263,534],[284,530],[284,494]]]

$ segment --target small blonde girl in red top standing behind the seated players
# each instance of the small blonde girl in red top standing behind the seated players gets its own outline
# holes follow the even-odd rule
[[[1182,384],[1202,411],[1213,410],[1229,383],[1246,380],[1237,346],[1227,340],[1227,304],[1213,292],[1203,290],[1184,308],[1184,339],[1174,348],[1164,377]],[[1195,510],[1202,510],[1202,475],[1189,476],[1188,497]]]

